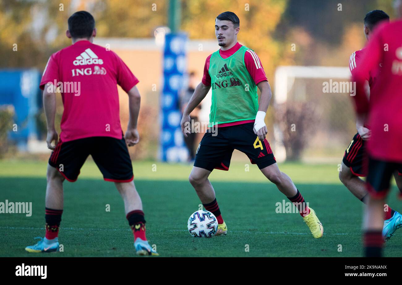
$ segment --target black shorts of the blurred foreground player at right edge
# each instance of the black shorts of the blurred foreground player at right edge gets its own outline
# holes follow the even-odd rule
[[[388,194],[392,174],[398,169],[402,163],[368,158],[367,191],[371,197],[380,199]]]

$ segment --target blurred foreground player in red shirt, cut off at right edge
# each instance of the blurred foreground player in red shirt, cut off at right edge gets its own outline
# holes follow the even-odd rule
[[[381,24],[373,33],[363,64],[356,67],[355,100],[358,119],[370,126],[367,141],[369,192],[364,214],[365,256],[381,256],[385,197],[392,174],[402,167],[402,0],[394,3],[399,20]],[[370,102],[365,92],[369,71],[382,64],[381,72],[371,89]],[[367,119],[366,119],[367,117]]]

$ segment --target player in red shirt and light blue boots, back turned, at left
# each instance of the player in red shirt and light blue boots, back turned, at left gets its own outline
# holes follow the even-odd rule
[[[63,212],[63,181],[76,181],[91,155],[106,181],[113,181],[124,200],[127,220],[139,255],[158,255],[146,239],[142,202],[133,181],[127,149],[139,142],[137,118],[140,95],[138,79],[113,51],[92,43],[95,20],[86,11],[68,19],[72,45],[49,58],[40,88],[47,120],[47,147],[52,151],[47,167],[45,238],[29,252],[59,251],[58,232]],[[117,84],[129,96],[130,118],[125,136],[120,125]],[[55,130],[56,87],[62,94],[64,112],[60,138]],[[55,141],[55,145],[51,143]],[[127,145],[126,145],[127,144]]]

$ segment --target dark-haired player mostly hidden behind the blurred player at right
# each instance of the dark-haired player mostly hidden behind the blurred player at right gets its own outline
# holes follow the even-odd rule
[[[364,18],[364,33],[367,41],[369,41],[376,26],[383,21],[389,22],[389,20],[390,17],[382,10],[368,12]],[[364,63],[362,59],[366,50],[366,48],[363,48],[352,53],[349,59],[349,69],[352,75],[355,74],[355,71],[357,70],[356,67]],[[368,84],[369,89],[374,88],[380,69],[381,67],[376,66],[366,74],[366,85]],[[365,182],[359,177],[366,176],[363,167],[363,160],[365,157],[366,142],[371,136],[371,130],[369,130],[367,124],[364,124],[364,122],[359,120],[356,122],[356,128],[357,134],[353,137],[350,145],[345,151],[345,155],[343,156],[342,171],[339,172],[339,179],[349,189],[349,191],[353,193],[353,195],[365,203],[368,194]],[[398,185],[399,189],[402,191],[401,175],[402,169],[399,169],[394,173],[396,185]],[[402,215],[395,210],[388,208],[384,215],[384,227],[382,232],[384,238],[388,240],[400,226],[402,226]]]

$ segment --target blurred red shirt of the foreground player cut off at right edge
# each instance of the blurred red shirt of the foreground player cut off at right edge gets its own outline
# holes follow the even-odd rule
[[[380,63],[369,102],[364,81]],[[367,113],[371,127],[367,152],[375,159],[402,163],[402,21],[381,24],[374,31],[352,80],[356,112]]]

